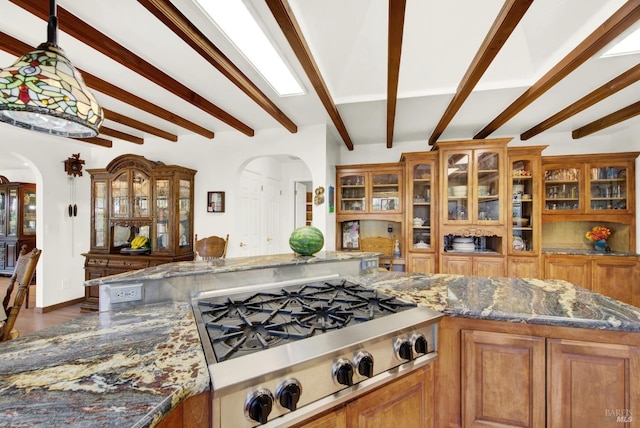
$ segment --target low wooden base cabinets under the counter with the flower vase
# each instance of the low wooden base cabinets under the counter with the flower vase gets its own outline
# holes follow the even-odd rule
[[[640,258],[637,256],[545,254],[544,278],[563,279],[640,307]]]

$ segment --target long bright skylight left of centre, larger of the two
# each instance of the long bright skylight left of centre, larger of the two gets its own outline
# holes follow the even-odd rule
[[[304,94],[304,89],[242,0],[194,1],[279,96]]]

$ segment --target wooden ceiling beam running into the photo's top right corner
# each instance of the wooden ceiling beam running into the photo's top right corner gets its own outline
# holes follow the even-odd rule
[[[640,19],[640,0],[627,0],[620,9],[602,23],[586,39],[576,46],[558,64],[527,89],[509,107],[478,132],[473,138],[486,138],[507,123],[512,117],[524,110],[556,83],[567,77],[572,71],[598,53],[613,39],[622,34]]]

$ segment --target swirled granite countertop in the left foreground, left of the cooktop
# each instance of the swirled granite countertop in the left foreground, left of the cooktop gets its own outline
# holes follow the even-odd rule
[[[188,303],[83,315],[0,354],[0,426],[153,426],[210,389]]]

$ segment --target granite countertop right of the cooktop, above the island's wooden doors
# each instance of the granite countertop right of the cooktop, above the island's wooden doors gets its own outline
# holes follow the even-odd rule
[[[354,280],[446,315],[640,332],[640,309],[562,280],[390,272]]]

